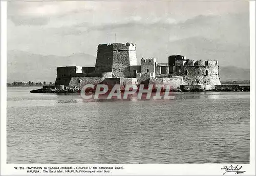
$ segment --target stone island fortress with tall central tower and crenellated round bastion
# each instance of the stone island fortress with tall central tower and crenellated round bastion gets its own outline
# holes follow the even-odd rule
[[[85,59],[86,63],[86,59]],[[77,87],[86,84],[164,84],[176,89],[182,85],[200,85],[211,90],[220,85],[217,60],[189,60],[172,55],[168,63],[158,63],[156,58],[141,58],[137,63],[134,43],[100,44],[95,67],[57,67],[56,87]]]

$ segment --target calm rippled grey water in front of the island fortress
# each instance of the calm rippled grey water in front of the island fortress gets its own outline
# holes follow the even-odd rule
[[[7,88],[7,163],[249,163],[249,93],[88,102]]]

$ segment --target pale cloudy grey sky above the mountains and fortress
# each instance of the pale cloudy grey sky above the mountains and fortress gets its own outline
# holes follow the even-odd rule
[[[167,63],[181,54],[249,69],[245,1],[15,1],[8,2],[7,35],[8,51],[96,56],[99,43],[133,42],[138,60]]]

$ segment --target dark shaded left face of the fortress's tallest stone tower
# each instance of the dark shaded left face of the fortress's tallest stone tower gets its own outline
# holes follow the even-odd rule
[[[113,45],[102,44],[98,46],[95,63],[96,72],[112,72]]]

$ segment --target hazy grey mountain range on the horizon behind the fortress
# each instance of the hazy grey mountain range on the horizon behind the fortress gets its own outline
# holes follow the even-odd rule
[[[166,59],[167,60],[167,59]],[[56,67],[67,65],[94,66],[96,57],[76,53],[71,56],[39,55],[19,50],[7,52],[7,82],[54,82]],[[250,80],[250,70],[234,66],[221,67],[221,81]]]

